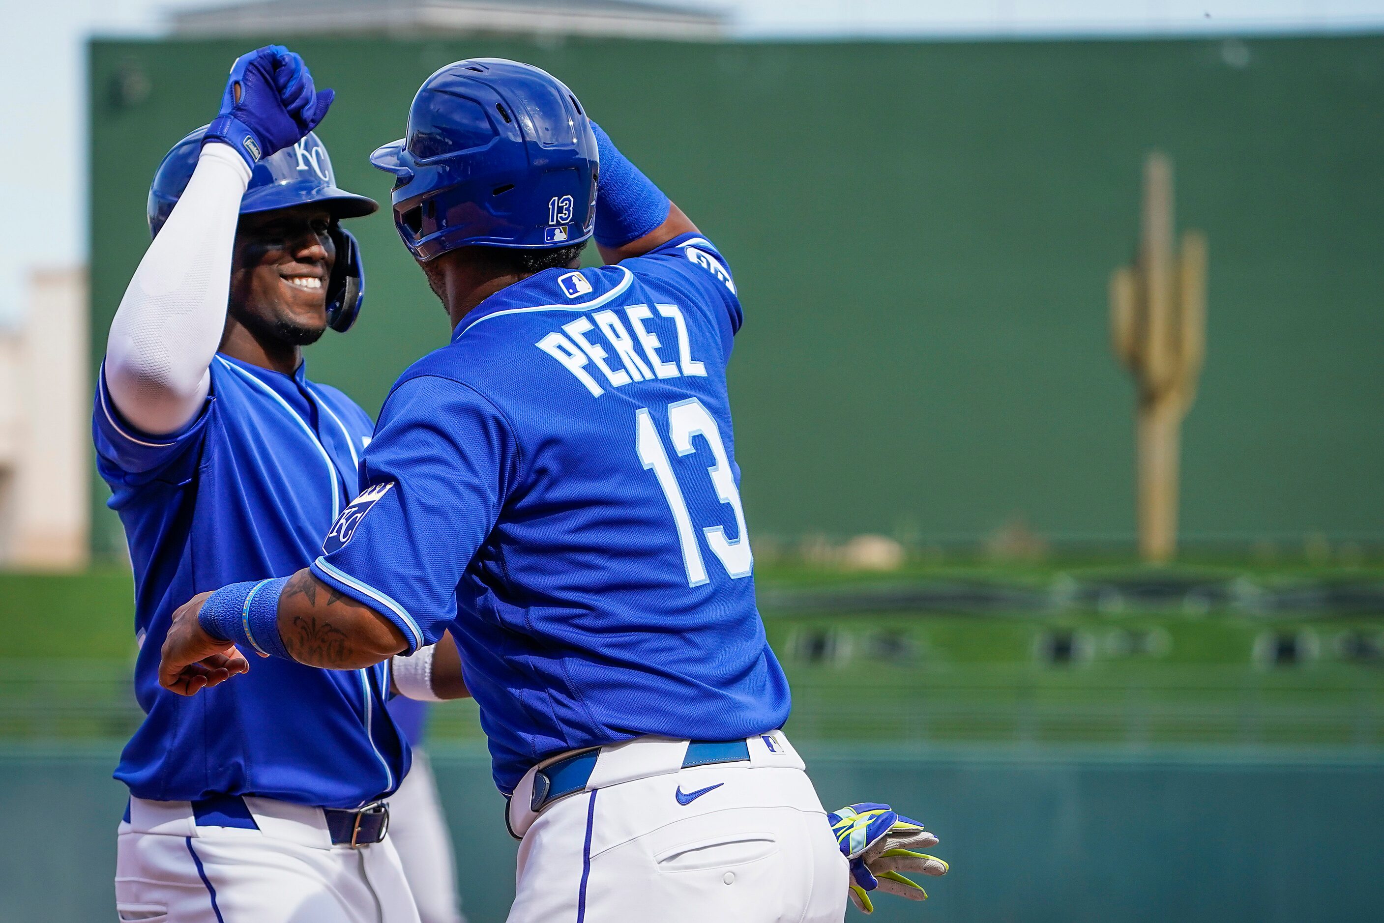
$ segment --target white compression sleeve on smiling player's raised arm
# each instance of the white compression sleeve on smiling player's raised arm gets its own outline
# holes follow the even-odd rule
[[[172,433],[191,421],[212,385],[226,328],[231,255],[245,161],[208,144],[187,190],[134,271],[105,343],[105,386],[131,423]]]

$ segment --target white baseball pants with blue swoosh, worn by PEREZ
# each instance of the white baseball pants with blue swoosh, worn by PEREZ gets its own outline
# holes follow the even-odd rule
[[[536,816],[530,771],[511,798],[509,923],[840,923],[846,858],[782,732],[763,740],[692,768],[686,740],[603,747],[587,790]]]

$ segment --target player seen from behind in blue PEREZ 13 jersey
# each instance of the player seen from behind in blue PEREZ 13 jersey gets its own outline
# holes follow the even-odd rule
[[[239,650],[268,657],[251,675],[403,653],[424,695],[464,667],[522,839],[512,923],[835,922],[848,858],[944,872],[883,805],[828,822],[782,731],[717,248],[523,64],[437,71],[371,161],[451,342],[396,382],[321,556],[180,607],[161,682],[217,686]],[[592,232],[606,266],[583,270]]]

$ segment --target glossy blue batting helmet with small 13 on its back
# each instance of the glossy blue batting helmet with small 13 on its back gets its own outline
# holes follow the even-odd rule
[[[577,97],[518,61],[428,77],[407,136],[370,156],[394,174],[394,226],[421,260],[458,246],[567,246],[595,226],[599,156]]]

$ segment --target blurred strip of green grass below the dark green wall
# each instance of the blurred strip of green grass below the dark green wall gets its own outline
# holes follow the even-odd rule
[[[1055,572],[1045,581],[958,573],[828,588],[772,569],[761,578],[770,641],[793,684],[796,739],[1384,756],[1384,578],[1374,572],[1241,576],[1239,595],[1214,607],[1208,599],[1230,583],[1214,573],[1172,595],[1167,572],[1124,584],[1102,573]],[[66,605],[83,607],[66,612],[53,594],[46,620],[0,643],[0,738],[123,740],[133,732],[141,717],[133,646],[119,631],[83,631],[131,617],[109,601],[86,607],[91,588],[129,591],[127,581],[122,572],[93,574],[86,592],[66,594]],[[21,599],[80,583],[0,577]],[[1117,592],[1132,598],[1116,603]],[[1276,598],[1297,605],[1279,610]],[[983,607],[985,599],[1001,606]],[[57,656],[73,638],[82,656]],[[437,707],[432,738],[482,742],[473,703]]]

